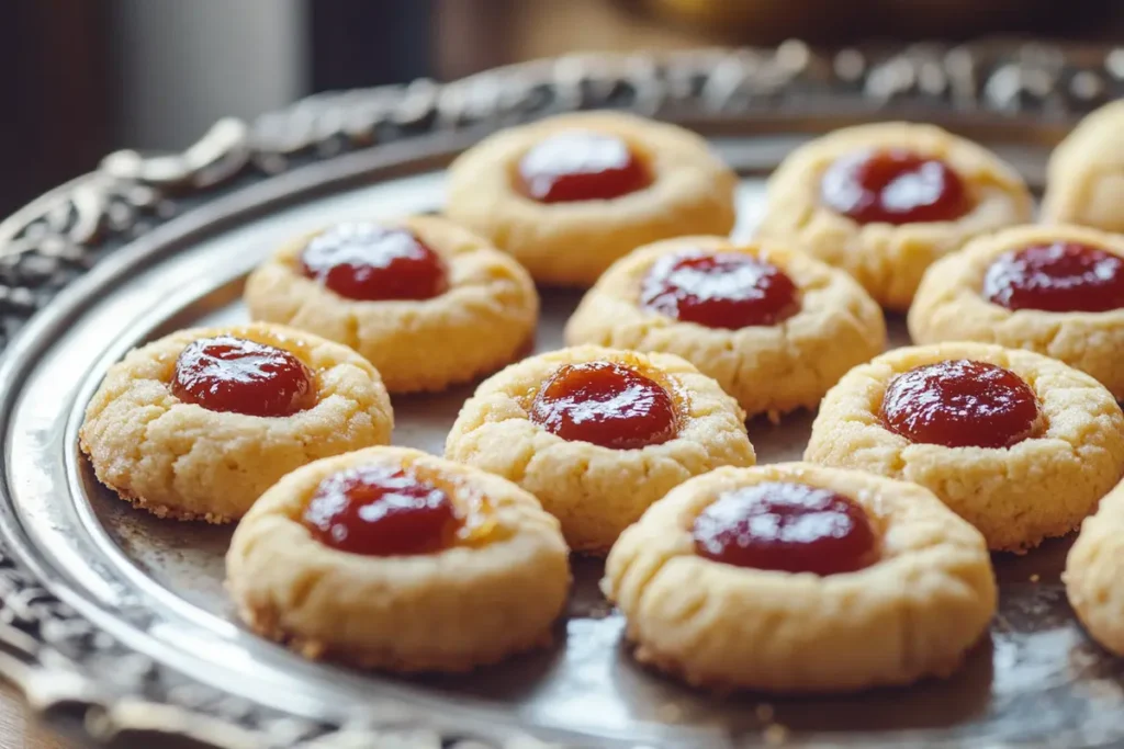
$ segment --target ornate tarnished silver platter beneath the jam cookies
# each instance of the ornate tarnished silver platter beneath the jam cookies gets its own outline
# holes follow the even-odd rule
[[[1001,612],[946,682],[841,698],[689,691],[632,663],[596,591],[599,564],[586,559],[552,650],[469,676],[393,679],[306,663],[243,630],[221,587],[229,530],[164,523],[109,496],[75,432],[128,348],[242,319],[242,280],[279,240],[439,209],[442,166],[508,124],[617,107],[694,127],[744,176],[746,234],[763,176],[817,133],[937,121],[1041,185],[1076,117],[1122,94],[1124,51],[821,57],[788,44],[573,57],[321,95],[252,127],[220,122],[176,156],[110,156],[0,223],[0,673],[61,725],[145,747],[1120,746],[1124,663],[1076,625],[1059,583],[1063,541],[996,557]],[[544,294],[540,348],[560,345],[575,301]],[[396,400],[396,441],[441,451],[468,392]],[[760,458],[798,456],[809,422],[751,423]]]

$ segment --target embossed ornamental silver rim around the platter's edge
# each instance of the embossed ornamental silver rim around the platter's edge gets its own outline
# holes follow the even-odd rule
[[[602,107],[687,119],[767,118],[779,108],[881,117],[886,110],[951,110],[1069,122],[1122,95],[1124,48],[923,44],[826,56],[799,42],[774,49],[578,55],[448,84],[423,80],[319,94],[253,126],[223,120],[181,154],[112,154],[97,172],[0,222],[0,348],[70,281],[144,231],[239,184],[346,150],[392,148],[436,131],[483,131]],[[382,741],[419,749],[546,746],[525,736],[463,737],[417,715],[324,724],[235,700],[98,631],[2,548],[0,601],[0,676],[16,684],[38,714],[79,718],[85,736],[98,741],[158,746],[178,737],[216,749],[357,748]],[[107,687],[99,674],[109,667],[130,673],[129,685]]]

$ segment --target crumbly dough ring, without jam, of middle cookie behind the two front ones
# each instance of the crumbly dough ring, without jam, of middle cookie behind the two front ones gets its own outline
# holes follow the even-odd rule
[[[598,360],[662,381],[680,409],[679,435],[618,450],[568,441],[531,421],[531,402],[561,366]],[[753,465],[744,418],[718,383],[678,356],[579,346],[525,359],[482,383],[461,409],[445,457],[510,478],[562,522],[571,548],[604,554],[673,486],[718,466]]]

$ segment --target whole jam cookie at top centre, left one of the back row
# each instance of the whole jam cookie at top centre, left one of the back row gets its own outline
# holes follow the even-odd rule
[[[448,216],[535,281],[588,286],[641,245],[728,234],[737,179],[697,135],[619,112],[502,130],[448,171]]]

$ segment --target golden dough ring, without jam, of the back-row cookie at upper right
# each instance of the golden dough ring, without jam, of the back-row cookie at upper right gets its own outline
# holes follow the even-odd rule
[[[935,156],[966,182],[975,208],[955,221],[861,225],[823,205],[819,182],[835,159],[906,148]],[[843,268],[885,308],[909,308],[925,268],[968,239],[1031,220],[1022,177],[995,154],[932,125],[881,122],[836,130],[792,152],[769,180],[760,236],[792,243]]]

